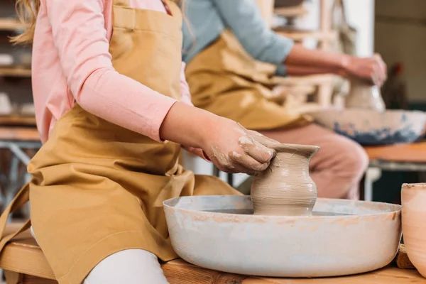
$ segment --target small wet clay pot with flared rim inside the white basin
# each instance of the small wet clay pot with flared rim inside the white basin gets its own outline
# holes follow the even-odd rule
[[[309,175],[318,146],[278,144],[269,168],[251,185],[256,215],[310,216],[317,200],[317,186]]]

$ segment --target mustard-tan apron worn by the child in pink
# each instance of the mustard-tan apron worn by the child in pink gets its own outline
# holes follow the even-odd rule
[[[129,7],[129,0],[114,0],[110,53],[115,69],[180,99],[178,6],[170,3],[174,16]],[[31,223],[59,283],[81,283],[99,261],[124,249],[151,251],[162,261],[177,258],[163,201],[238,194],[217,178],[183,169],[179,153],[177,143],[158,143],[78,105],[56,122],[28,171],[33,175]],[[28,186],[2,214],[1,235],[7,215],[26,201]],[[1,240],[0,249],[11,237]]]

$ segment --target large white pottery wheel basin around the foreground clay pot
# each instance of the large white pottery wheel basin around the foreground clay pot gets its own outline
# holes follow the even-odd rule
[[[400,243],[400,205],[319,198],[319,216],[252,215],[249,196],[164,202],[176,253],[197,266],[270,277],[364,273],[390,263]]]

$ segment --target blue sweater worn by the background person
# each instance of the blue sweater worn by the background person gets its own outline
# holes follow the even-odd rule
[[[230,28],[244,49],[256,60],[278,66],[277,74],[285,75],[282,62],[293,48],[293,40],[277,35],[263,20],[254,0],[185,0],[183,60],[192,58],[219,38],[225,28]],[[194,38],[190,33],[195,35]],[[185,53],[190,50],[190,53]]]

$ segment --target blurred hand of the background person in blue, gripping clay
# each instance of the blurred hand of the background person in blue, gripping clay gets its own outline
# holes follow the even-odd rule
[[[344,63],[344,75],[358,77],[381,87],[387,77],[386,63],[378,54],[371,58],[349,57]]]

